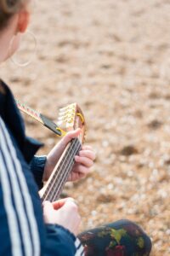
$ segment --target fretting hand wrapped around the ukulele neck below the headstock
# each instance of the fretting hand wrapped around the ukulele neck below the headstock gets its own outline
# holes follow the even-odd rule
[[[54,170],[61,154],[65,150],[66,145],[72,138],[78,137],[81,129],[68,132],[60,142],[49,152],[47,161],[44,167],[43,181],[47,181],[51,172]],[[90,171],[90,167],[93,166],[95,154],[93,148],[89,146],[83,146],[79,152],[79,156],[75,156],[75,165],[72,168],[71,175],[68,177],[68,181],[76,181],[79,178],[85,177]]]

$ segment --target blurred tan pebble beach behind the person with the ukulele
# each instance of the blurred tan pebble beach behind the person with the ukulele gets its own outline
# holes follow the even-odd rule
[[[170,255],[169,0],[42,0],[31,9],[37,55],[24,68],[8,61],[0,76],[54,121],[59,108],[81,106],[97,159],[64,193],[80,206],[82,230],[128,218],[150,235],[152,255]],[[27,61],[29,35],[21,45]],[[47,154],[59,139],[24,118]]]

